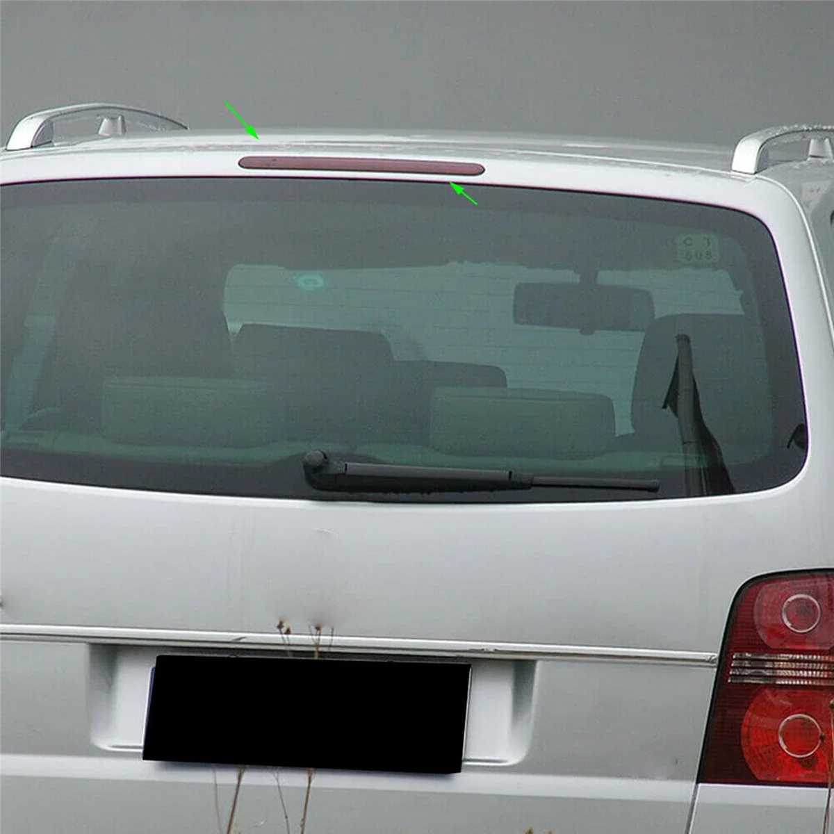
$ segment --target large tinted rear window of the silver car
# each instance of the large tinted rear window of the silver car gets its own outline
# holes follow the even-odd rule
[[[759,221],[466,193],[314,178],[0,188],[0,474],[444,502],[657,500],[796,474],[796,351]],[[383,466],[323,488],[305,477],[314,451]],[[412,489],[414,467],[428,469]],[[495,477],[432,488],[459,470]],[[525,488],[502,488],[508,473]]]

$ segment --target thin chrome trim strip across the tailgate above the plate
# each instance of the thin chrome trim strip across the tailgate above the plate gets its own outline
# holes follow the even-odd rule
[[[312,635],[231,631],[180,631],[177,629],[106,628],[95,625],[0,625],[0,640],[51,641],[57,643],[113,643],[121,646],[194,646],[295,648],[312,650]],[[677,666],[716,666],[718,656],[709,651],[632,649],[615,646],[553,646],[536,643],[414,640],[402,637],[334,636],[328,631],[320,645],[327,651],[389,652],[404,655],[495,657],[501,660],[588,660],[673,663]]]

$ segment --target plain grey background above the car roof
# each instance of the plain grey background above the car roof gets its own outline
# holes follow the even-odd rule
[[[0,0],[3,141],[83,101],[731,143],[834,122],[834,0]]]

